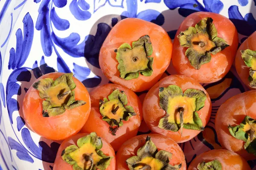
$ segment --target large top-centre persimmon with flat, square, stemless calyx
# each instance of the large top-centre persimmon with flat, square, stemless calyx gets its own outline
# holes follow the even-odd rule
[[[126,18],[109,32],[99,65],[111,82],[139,92],[151,88],[169,66],[172,41],[160,26]]]

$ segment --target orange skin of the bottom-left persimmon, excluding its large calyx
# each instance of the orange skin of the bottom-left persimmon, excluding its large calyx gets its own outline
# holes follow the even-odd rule
[[[70,146],[72,144],[76,145],[76,141],[79,138],[84,137],[86,135],[89,135],[89,134],[87,134],[87,133],[79,133],[79,134],[76,134],[74,136],[70,136],[69,138],[67,138],[66,140],[64,140],[61,143],[61,146],[59,147],[58,152],[57,152],[56,159],[54,161],[53,170],[73,170],[72,166],[70,164],[68,164],[67,162],[65,162],[61,158],[61,153],[62,153],[62,151],[66,147],[68,147],[68,146]],[[108,168],[106,170],[115,170],[116,169],[116,167],[115,167],[115,165],[116,165],[115,151],[113,150],[113,147],[111,146],[111,144],[106,142],[105,139],[101,138],[101,140],[102,140],[102,148],[100,150],[102,150],[102,152],[105,155],[113,157],[111,159],[110,165],[108,166]]]

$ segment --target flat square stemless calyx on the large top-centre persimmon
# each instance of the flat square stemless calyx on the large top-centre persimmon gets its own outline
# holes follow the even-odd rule
[[[122,79],[136,79],[139,74],[151,76],[153,73],[154,58],[149,57],[153,53],[153,46],[148,35],[132,42],[132,47],[128,43],[123,43],[115,52],[119,63],[117,69]]]

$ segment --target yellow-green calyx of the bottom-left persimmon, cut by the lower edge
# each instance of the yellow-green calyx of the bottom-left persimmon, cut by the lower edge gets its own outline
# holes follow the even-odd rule
[[[110,165],[112,157],[106,156],[100,149],[102,141],[96,133],[77,140],[76,145],[66,147],[61,157],[73,170],[105,170]]]

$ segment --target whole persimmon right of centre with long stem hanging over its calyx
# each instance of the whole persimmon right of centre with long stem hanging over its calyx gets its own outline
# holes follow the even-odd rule
[[[161,79],[143,101],[143,119],[151,132],[168,136],[177,143],[189,141],[204,130],[211,110],[207,91],[184,75]]]

